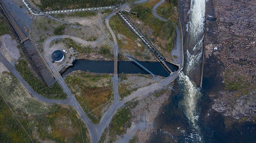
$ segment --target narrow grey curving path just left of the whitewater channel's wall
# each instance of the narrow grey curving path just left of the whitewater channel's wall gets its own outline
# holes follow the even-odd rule
[[[164,0],[161,0],[160,2],[156,3],[154,6],[153,6],[153,15],[160,19],[160,20],[163,20],[163,21],[167,21],[167,19],[159,16],[158,14],[156,14],[156,9],[158,8],[159,5],[161,5],[162,3],[164,2]],[[173,23],[174,24],[174,23]],[[176,24],[175,24],[176,25]],[[176,25],[175,27],[175,30],[176,30],[176,46],[174,49],[172,49],[172,56],[175,55],[177,56],[177,59],[176,59],[176,63],[177,64],[182,64],[182,52],[181,52],[181,32],[179,31],[179,28],[178,26]]]

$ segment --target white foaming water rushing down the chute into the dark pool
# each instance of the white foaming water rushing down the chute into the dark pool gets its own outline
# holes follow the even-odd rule
[[[184,96],[185,115],[191,123],[193,132],[187,135],[186,142],[201,142],[200,128],[197,126],[199,115],[196,112],[197,100],[201,96],[200,88],[189,79],[189,73],[196,73],[202,62],[203,32],[205,26],[205,0],[191,0],[189,19],[189,47],[187,49],[186,71],[179,74],[181,93]],[[190,50],[190,51],[189,51]]]

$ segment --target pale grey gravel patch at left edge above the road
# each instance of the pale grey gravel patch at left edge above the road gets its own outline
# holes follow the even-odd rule
[[[13,59],[18,60],[20,55],[19,49],[17,48],[18,43],[11,39],[11,35],[5,34],[2,37],[2,43],[4,48],[10,53]]]

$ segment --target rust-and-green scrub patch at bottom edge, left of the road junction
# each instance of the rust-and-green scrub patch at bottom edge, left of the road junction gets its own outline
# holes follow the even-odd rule
[[[36,116],[35,119],[39,121],[38,133],[41,139],[52,139],[57,142],[65,142],[66,140],[68,142],[82,142],[82,127],[84,139],[89,140],[86,135],[87,128],[85,126],[80,127],[74,110],[70,112],[66,108],[54,105],[46,115]]]

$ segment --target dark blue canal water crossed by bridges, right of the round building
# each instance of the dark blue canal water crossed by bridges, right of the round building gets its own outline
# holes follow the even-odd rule
[[[159,62],[138,61],[142,66],[147,68],[155,75],[169,76],[170,74],[163,68]],[[177,66],[166,62],[167,66],[174,72],[178,70]],[[69,67],[62,76],[72,71],[82,70],[94,73],[114,73],[114,61],[91,61],[91,60],[75,60],[73,66]],[[118,61],[118,73],[130,74],[149,74],[147,71],[139,67],[132,61]]]

